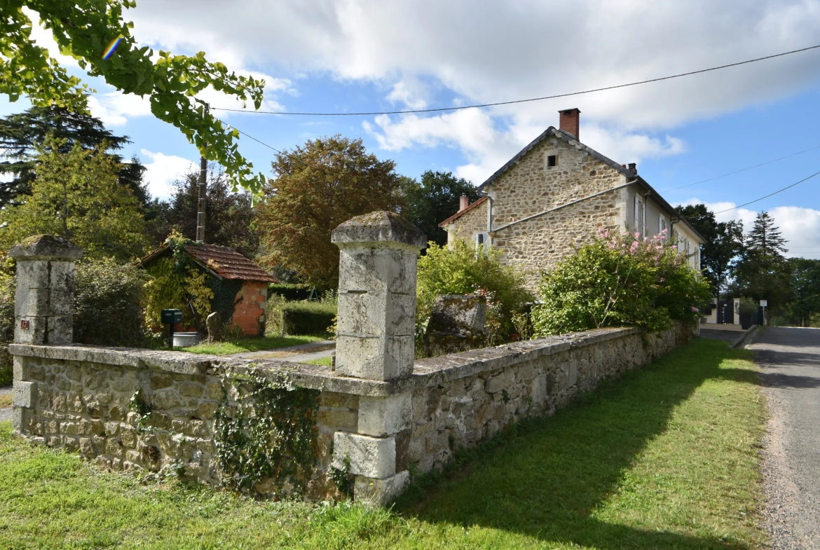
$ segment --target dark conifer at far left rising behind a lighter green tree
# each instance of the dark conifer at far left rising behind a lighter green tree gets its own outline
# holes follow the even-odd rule
[[[61,140],[61,152],[69,152],[75,143],[85,150],[108,144],[108,154],[119,164],[120,184],[127,186],[137,200],[148,202],[148,190],[143,183],[145,167],[138,157],[130,163],[123,162],[116,154],[130,143],[126,136],[118,136],[106,130],[103,121],[90,115],[69,111],[64,107],[31,107],[28,111],[0,118],[0,149],[4,161],[0,161],[0,174],[6,181],[0,182],[0,207],[16,204],[19,195],[31,192],[35,177],[34,153],[47,135]],[[64,141],[62,141],[64,140]]]

